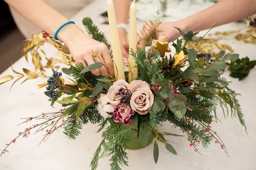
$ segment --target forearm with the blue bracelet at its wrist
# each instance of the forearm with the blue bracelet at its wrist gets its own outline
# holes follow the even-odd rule
[[[52,8],[45,0],[5,0],[19,14],[47,33],[54,35],[55,31],[69,21],[66,17]],[[70,24],[73,25],[73,24]],[[58,34],[58,39],[65,42],[65,30],[75,26],[65,26]]]

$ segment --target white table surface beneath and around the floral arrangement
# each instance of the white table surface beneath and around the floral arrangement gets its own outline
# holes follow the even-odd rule
[[[144,0],[143,2],[146,2]],[[139,3],[138,17],[148,20],[157,10],[156,1],[151,0],[148,3]],[[170,2],[166,14],[170,17],[166,21],[175,21],[183,17],[194,14],[212,3],[192,3],[195,1],[182,1],[178,4],[176,1]],[[160,6],[160,3],[158,3]],[[153,10],[152,10],[153,9]],[[104,31],[109,37],[108,25],[101,25],[104,21],[99,14],[106,10],[105,0],[96,0],[89,6],[83,8],[71,20],[74,20],[78,26],[84,29],[81,21],[83,17],[89,16],[96,23],[100,30]],[[140,24],[138,24],[139,27]],[[214,31],[234,30],[244,28],[245,25],[230,23],[225,26],[214,28]],[[85,29],[84,29],[85,30]],[[203,35],[206,31],[202,31]],[[225,41],[223,41],[225,42]],[[238,41],[227,41],[226,44],[235,49],[235,53],[241,57],[249,56],[250,59],[256,59],[255,44],[246,44]],[[57,57],[55,48],[45,45],[44,50],[48,57]],[[174,52],[174,51],[173,51]],[[31,58],[29,57],[31,61]],[[19,59],[13,67],[16,71],[22,71],[21,68],[33,70],[32,63],[27,63],[25,58]],[[0,77],[7,74],[14,75],[11,68],[8,68]],[[218,118],[223,122],[212,123],[212,129],[217,131],[223,140],[230,157],[225,155],[218,144],[214,144],[205,149],[202,146],[198,150],[202,156],[194,152],[193,147],[189,147],[186,137],[166,136],[166,140],[171,143],[177,156],[169,153],[163,144],[159,144],[159,160],[154,163],[153,144],[140,150],[127,150],[129,157],[129,167],[123,167],[123,170],[256,170],[256,111],[255,111],[255,84],[256,68],[250,71],[250,74],[243,81],[229,77],[226,71],[223,76],[233,81],[230,87],[240,93],[239,96],[241,108],[244,113],[244,119],[247,125],[247,135],[244,128],[240,125],[237,118],[224,118],[221,109],[218,109]],[[20,118],[36,116],[42,112],[58,111],[61,108],[56,103],[52,108],[47,97],[44,95],[44,89],[37,89],[36,85],[43,83],[42,79],[30,80],[22,85],[16,83],[9,92],[13,81],[0,85],[0,149],[5,147],[17,136],[25,127],[29,127],[36,122],[17,126]],[[254,105],[254,106],[253,106]],[[89,170],[90,161],[93,153],[101,142],[101,133],[97,131],[97,125],[84,125],[81,135],[76,140],[68,140],[61,129],[55,132],[46,142],[38,145],[43,138],[41,134],[31,135],[28,139],[17,139],[15,144],[8,148],[10,153],[0,158],[0,170]],[[178,128],[173,129],[169,123],[163,123],[159,130],[182,134]],[[110,162],[108,158],[99,160],[99,170],[109,170]]]

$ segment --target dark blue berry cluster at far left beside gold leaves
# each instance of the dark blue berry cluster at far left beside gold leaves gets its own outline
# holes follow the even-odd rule
[[[61,75],[62,75],[61,72],[58,73],[57,71],[55,71],[54,74],[52,74],[52,77],[49,77],[49,79],[47,80],[48,86],[47,86],[46,90],[49,91],[49,98],[55,99],[56,96],[58,96],[58,93],[55,93],[55,91],[54,91],[55,89],[57,89],[59,87],[58,82],[55,82],[56,81],[55,78],[56,77],[60,78]]]

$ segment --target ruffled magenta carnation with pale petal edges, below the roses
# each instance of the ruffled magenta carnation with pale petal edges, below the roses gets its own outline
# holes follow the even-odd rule
[[[119,103],[119,105],[116,105],[114,108],[116,112],[113,113],[114,115],[114,122],[122,122],[124,124],[131,123],[131,115],[134,115],[134,111],[131,109],[130,106]]]

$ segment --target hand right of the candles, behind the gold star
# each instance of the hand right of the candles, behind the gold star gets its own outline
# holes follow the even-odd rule
[[[158,27],[152,27],[150,22],[147,22],[138,34],[138,44],[140,47],[149,46],[153,39],[172,42],[180,37],[180,32],[175,27],[179,28],[180,24],[178,22],[165,22]],[[156,36],[154,35],[155,33],[157,33]],[[146,40],[143,37],[151,38]]]

